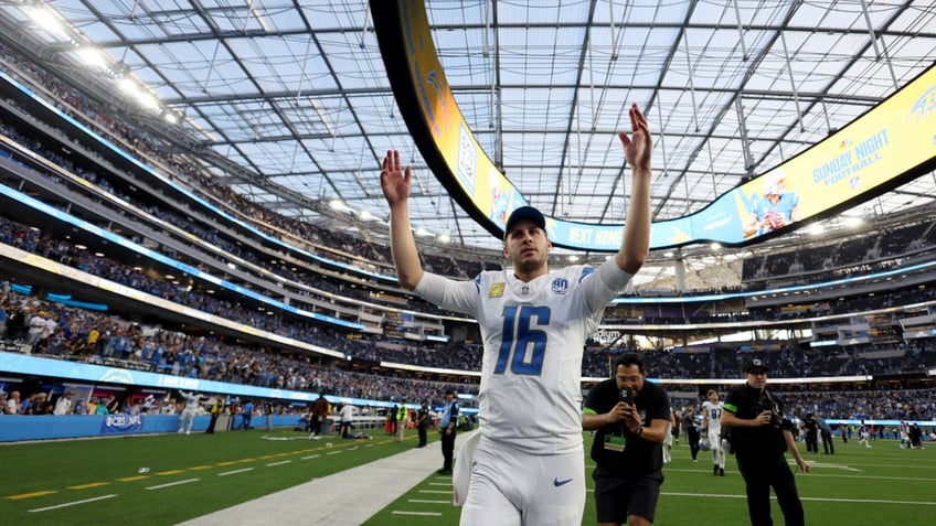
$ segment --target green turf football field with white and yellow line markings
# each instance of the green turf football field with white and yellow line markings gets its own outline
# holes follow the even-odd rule
[[[369,447],[304,437],[284,429],[272,436],[254,430],[2,444],[0,524],[176,524],[407,451],[415,442],[413,434],[398,443],[382,432]],[[587,433],[585,440],[587,448]],[[797,474],[797,484],[809,524],[936,522],[936,444],[925,450],[900,449],[894,441],[872,444],[839,440],[834,455],[807,457],[812,473]],[[337,449],[344,454],[328,454]],[[693,463],[689,448],[676,444],[656,524],[746,524],[734,459],[728,457],[724,477],[712,475],[710,453],[699,459]],[[149,471],[140,473],[141,468]],[[237,474],[245,476],[230,476]],[[365,524],[458,524],[450,492],[450,477],[428,476]],[[366,497],[342,496],[348,505]],[[783,524],[776,504],[774,518]],[[310,524],[309,517],[296,524]],[[595,524],[591,492],[583,524]]]

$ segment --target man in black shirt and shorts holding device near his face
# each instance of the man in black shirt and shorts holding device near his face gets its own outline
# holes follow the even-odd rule
[[[670,399],[660,386],[645,382],[640,355],[618,356],[614,371],[614,378],[588,391],[582,412],[582,426],[597,430],[592,477],[598,524],[649,525],[663,483]]]

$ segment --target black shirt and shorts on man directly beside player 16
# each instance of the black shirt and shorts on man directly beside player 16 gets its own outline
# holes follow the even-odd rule
[[[585,411],[604,415],[619,399],[617,380],[607,379],[588,391]],[[670,398],[657,384],[644,382],[634,405],[645,427],[651,420],[670,420]],[[652,522],[663,483],[663,446],[635,436],[621,420],[595,432],[592,460],[597,464],[592,477],[598,522],[627,523],[628,514]]]

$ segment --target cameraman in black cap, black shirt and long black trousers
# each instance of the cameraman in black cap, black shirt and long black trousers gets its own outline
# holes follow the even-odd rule
[[[761,359],[751,359],[744,368],[747,383],[725,397],[722,426],[731,428],[732,452],[744,477],[747,513],[753,526],[770,525],[770,487],[787,526],[805,524],[802,503],[796,481],[784,458],[789,451],[798,469],[809,473],[793,438],[793,422],[784,418],[784,405],[767,390],[769,369]]]

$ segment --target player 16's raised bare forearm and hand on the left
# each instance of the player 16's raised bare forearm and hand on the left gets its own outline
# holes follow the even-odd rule
[[[416,240],[410,228],[408,200],[412,176],[413,172],[408,165],[401,168],[400,152],[387,151],[381,169],[381,189],[390,205],[390,251],[396,268],[396,279],[408,290],[415,289],[423,278]]]

